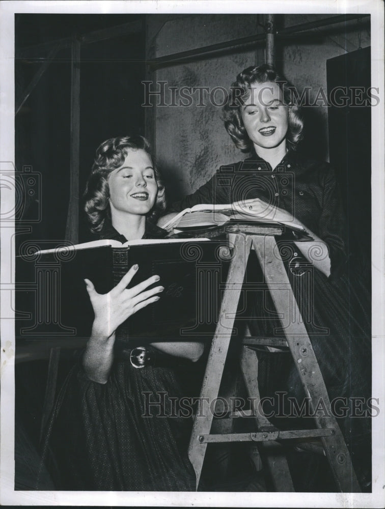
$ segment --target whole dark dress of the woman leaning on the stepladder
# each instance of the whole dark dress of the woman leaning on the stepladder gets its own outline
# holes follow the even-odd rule
[[[329,248],[331,275],[326,277],[301,256],[294,244],[277,239],[329,399],[347,398],[338,400],[335,413],[342,415],[342,401],[350,405],[353,415],[347,412],[347,416],[338,420],[353,462],[357,470],[369,471],[371,423],[370,413],[365,412],[369,411],[366,403],[371,395],[370,263],[368,267],[359,267],[347,252],[346,222],[332,167],[288,151],[272,171],[271,166],[254,153],[244,161],[219,168],[206,184],[173,204],[170,211],[198,203],[230,204],[255,198],[291,212]],[[293,262],[303,270],[291,271],[289,267],[293,267]],[[256,286],[261,281],[257,265],[252,253],[248,282],[255,281]],[[274,307],[269,296],[263,301],[260,295],[260,292],[250,292],[248,297],[246,315],[255,317],[249,320],[252,335],[282,337],[281,324],[272,312]],[[259,357],[261,395],[270,396],[272,387],[275,390],[279,387],[297,400],[304,398],[291,359],[283,364],[279,355],[275,356],[278,361],[263,353]],[[362,405],[358,403],[359,411],[352,410],[352,406],[357,405],[354,398],[364,400]],[[367,473],[365,475],[368,477]]]

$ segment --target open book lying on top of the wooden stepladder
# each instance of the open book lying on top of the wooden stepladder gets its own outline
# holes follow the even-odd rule
[[[293,219],[292,221],[277,221],[265,219],[253,214],[253,211],[246,212],[237,209],[232,204],[212,205],[198,204],[190,209],[184,209],[162,226],[168,232],[179,233],[191,229],[202,229],[204,227],[222,226],[228,222],[241,221],[260,224],[285,225],[291,230],[306,234],[303,225]]]

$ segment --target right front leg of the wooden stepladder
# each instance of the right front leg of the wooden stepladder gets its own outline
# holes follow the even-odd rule
[[[330,411],[331,405],[321,371],[313,351],[306,327],[300,318],[299,309],[291,292],[289,278],[282,260],[278,257],[277,244],[272,236],[254,236],[253,245],[265,275],[271,298],[280,314],[286,340],[297,367],[310,405],[322,402],[327,412],[320,412],[314,419],[319,429],[332,428],[334,435],[323,437],[325,454],[333,475],[342,492],[360,492],[348,448],[336,418]],[[289,296],[289,297],[288,297]]]

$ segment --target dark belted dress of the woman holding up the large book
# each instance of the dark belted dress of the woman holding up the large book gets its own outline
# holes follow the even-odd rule
[[[147,223],[144,238],[165,233]],[[111,225],[101,237],[125,241]],[[175,369],[135,369],[117,353],[105,384],[89,380],[81,360],[76,362],[61,388],[44,440],[43,462],[56,489],[195,490],[195,473],[187,457],[191,422],[176,416],[170,399],[179,401],[186,395],[178,377],[180,359],[167,357],[175,359]],[[159,404],[148,406],[146,401]],[[38,483],[38,489],[44,487]]]

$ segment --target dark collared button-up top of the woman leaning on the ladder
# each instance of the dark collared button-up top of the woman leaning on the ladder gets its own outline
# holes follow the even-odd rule
[[[257,154],[221,166],[206,184],[174,203],[169,211],[199,203],[230,204],[256,198],[287,210],[324,240],[332,274],[345,265],[345,218],[333,168],[296,151],[288,151],[274,169]]]

